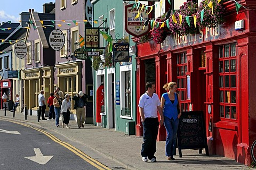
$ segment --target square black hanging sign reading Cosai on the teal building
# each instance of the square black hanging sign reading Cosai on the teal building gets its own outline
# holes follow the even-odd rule
[[[128,62],[129,61],[129,44],[114,43],[114,62]]]

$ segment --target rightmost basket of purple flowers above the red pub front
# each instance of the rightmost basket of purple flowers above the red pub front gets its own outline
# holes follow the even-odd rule
[[[208,6],[210,1],[212,2],[213,10]],[[215,28],[218,24],[225,22],[223,18],[223,12],[225,11],[223,2],[226,2],[226,0],[222,0],[219,3],[218,0],[204,0],[200,3],[198,7],[199,15],[197,15],[197,23],[201,25],[201,28]],[[201,21],[201,12],[203,13],[203,21]]]

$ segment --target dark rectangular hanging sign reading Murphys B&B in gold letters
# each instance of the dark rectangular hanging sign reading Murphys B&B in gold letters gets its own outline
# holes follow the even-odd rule
[[[99,28],[86,28],[85,29],[85,46],[86,49],[100,48],[100,30]],[[101,47],[104,48],[104,47]]]

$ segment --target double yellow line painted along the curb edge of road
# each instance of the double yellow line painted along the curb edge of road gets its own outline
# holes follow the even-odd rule
[[[22,126],[26,126],[28,128],[34,129],[36,131],[42,132],[44,133],[47,137],[49,137],[50,139],[52,139],[54,142],[59,143],[60,145],[62,145],[63,147],[67,148],[68,150],[70,150],[71,152],[73,152],[74,154],[76,154],[77,156],[81,157],[82,159],[84,159],[87,163],[91,164],[92,166],[100,169],[100,170],[111,170],[110,168],[108,168],[107,166],[101,164],[100,162],[98,162],[98,160],[95,160],[93,158],[91,158],[90,156],[86,155],[84,152],[82,152],[81,150],[75,148],[74,146],[70,145],[69,143],[63,142],[61,140],[59,140],[58,138],[54,137],[54,135],[52,135],[51,133],[45,132],[41,129],[38,128],[34,128],[33,126],[24,124],[24,123],[20,123],[20,122],[14,122],[14,121],[10,121],[7,120],[9,122],[12,123],[16,123],[16,124],[20,124]]]

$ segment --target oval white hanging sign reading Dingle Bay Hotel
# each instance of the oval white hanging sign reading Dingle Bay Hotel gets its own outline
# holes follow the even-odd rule
[[[65,36],[61,30],[52,30],[49,36],[49,44],[54,50],[61,50],[65,44]]]

